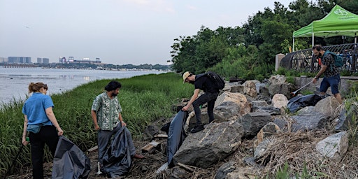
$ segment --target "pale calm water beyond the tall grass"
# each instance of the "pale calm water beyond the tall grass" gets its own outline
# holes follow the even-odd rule
[[[72,90],[94,80],[131,78],[163,71],[108,71],[84,69],[41,69],[41,68],[3,68],[0,66],[0,103],[24,100],[28,94],[29,83],[42,82],[48,85],[48,94]]]

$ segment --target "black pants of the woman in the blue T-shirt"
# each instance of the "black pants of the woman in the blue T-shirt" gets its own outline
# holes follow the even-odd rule
[[[34,179],[43,178],[43,148],[45,144],[55,156],[59,136],[54,126],[41,127],[38,134],[29,133],[31,143],[32,175]]]

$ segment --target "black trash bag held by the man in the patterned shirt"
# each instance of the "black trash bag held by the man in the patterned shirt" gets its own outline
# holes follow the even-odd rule
[[[127,142],[127,127],[115,133],[110,147],[103,156],[103,172],[110,178],[125,176],[131,169],[131,151]]]

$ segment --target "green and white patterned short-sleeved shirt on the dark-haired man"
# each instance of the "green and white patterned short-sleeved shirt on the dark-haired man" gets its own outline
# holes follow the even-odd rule
[[[120,122],[119,116],[122,112],[120,101],[117,96],[113,99],[103,92],[93,100],[92,110],[96,111],[97,122],[101,130],[113,131]]]

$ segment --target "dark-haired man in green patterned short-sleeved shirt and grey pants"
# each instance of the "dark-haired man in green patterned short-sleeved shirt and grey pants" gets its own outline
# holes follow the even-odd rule
[[[122,127],[127,126],[122,118],[122,107],[120,106],[120,101],[118,101],[117,98],[117,94],[120,92],[120,87],[122,87],[122,85],[117,81],[111,81],[108,83],[108,85],[104,88],[106,92],[96,96],[91,108],[94,129],[98,131],[98,157],[99,164],[101,166],[103,164],[103,156],[106,153],[110,138]],[[127,128],[125,128],[124,131],[127,136],[129,136],[127,141],[131,157],[143,159],[143,155],[136,154],[136,148],[133,145],[130,131]]]

